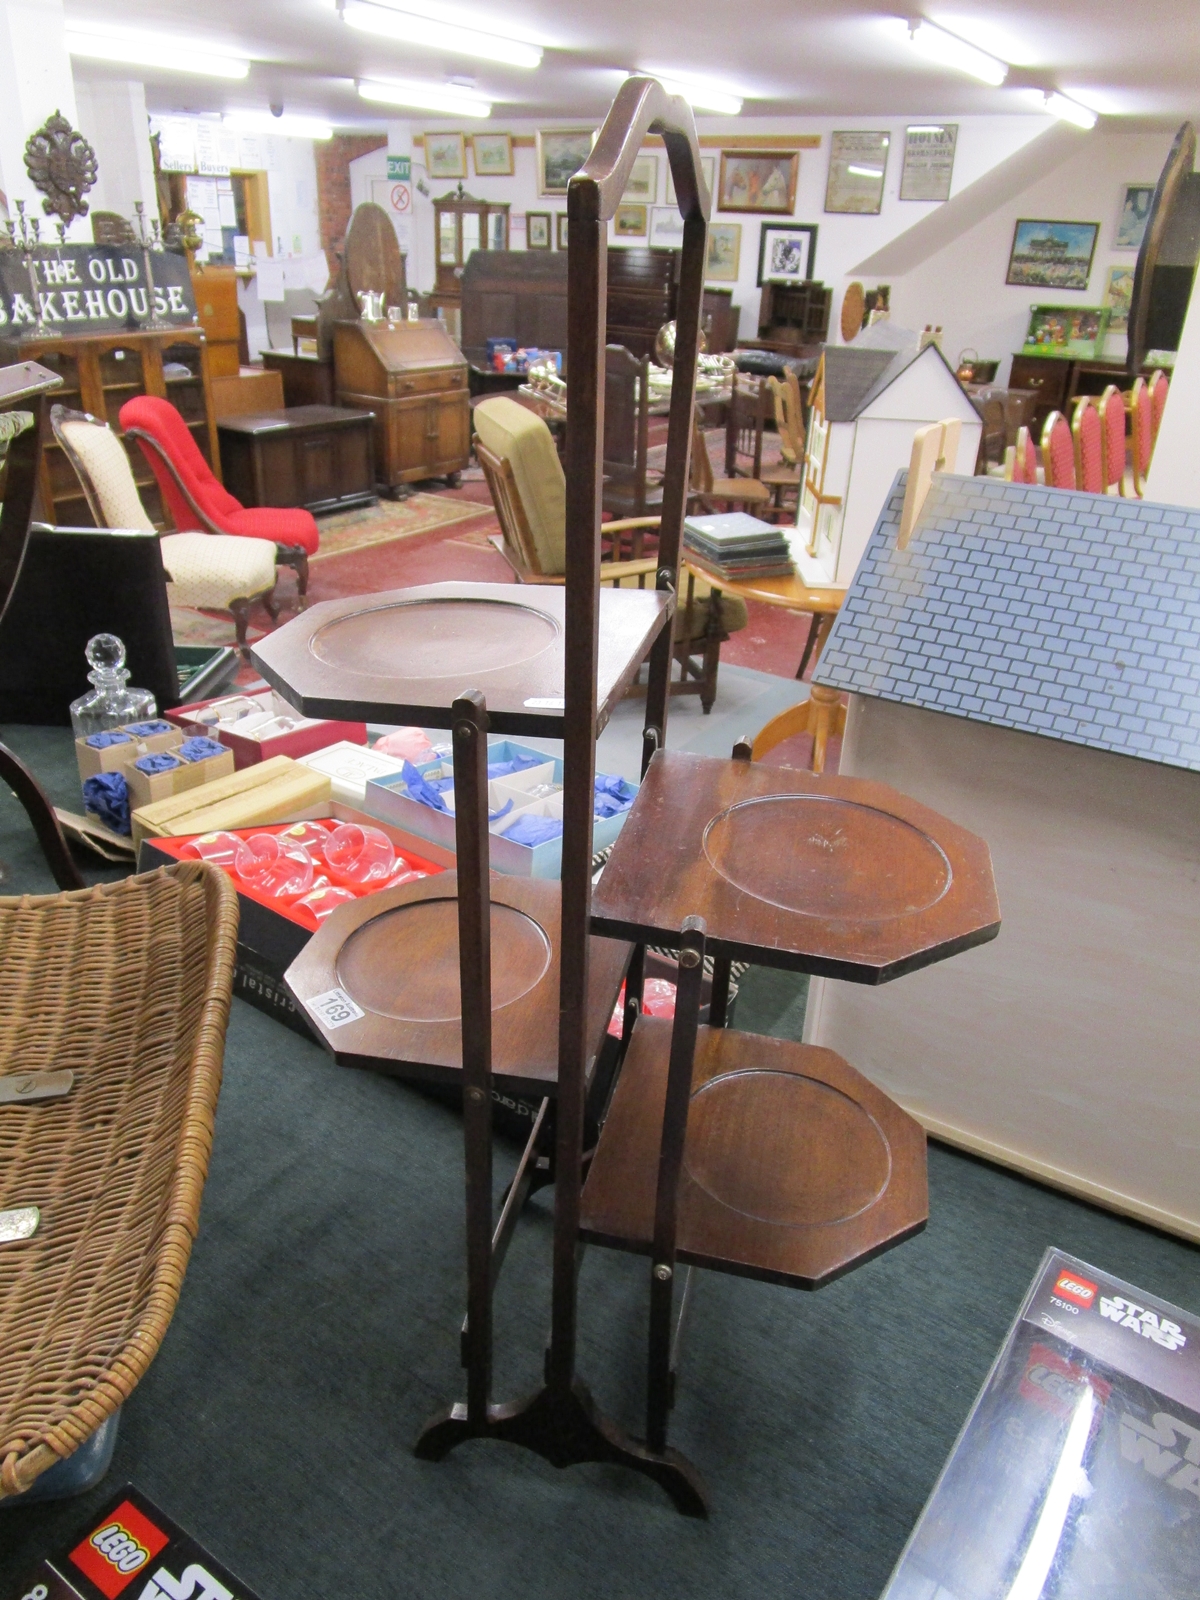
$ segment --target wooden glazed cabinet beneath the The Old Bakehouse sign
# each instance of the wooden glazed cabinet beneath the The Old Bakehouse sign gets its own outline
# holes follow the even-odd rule
[[[50,395],[51,405],[90,411],[107,421],[120,437],[120,408],[134,395],[170,400],[190,429],[213,472],[221,477],[221,456],[213,416],[208,341],[202,328],[166,328],[162,333],[66,334],[58,339],[0,339],[0,365],[38,362],[62,378]],[[158,526],[170,522],[158,485],[136,445],[125,446],[147,517]],[[62,528],[91,528],[93,517],[75,469],[51,438],[38,469],[38,515]]]

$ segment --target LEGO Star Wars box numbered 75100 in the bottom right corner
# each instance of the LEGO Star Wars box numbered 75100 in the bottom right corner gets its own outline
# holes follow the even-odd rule
[[[1200,1320],[1048,1250],[883,1600],[1195,1600]]]

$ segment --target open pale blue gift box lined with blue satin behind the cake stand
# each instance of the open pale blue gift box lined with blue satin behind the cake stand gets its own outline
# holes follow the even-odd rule
[[[562,835],[546,840],[542,845],[531,846],[515,843],[506,838],[506,834],[518,816],[554,816],[562,819],[562,794],[534,798],[530,795],[530,790],[547,782],[562,784],[563,763],[557,757],[546,755],[542,750],[534,750],[526,744],[517,744],[514,739],[488,741],[490,765],[512,760],[514,755],[534,755],[538,757],[538,765],[506,778],[493,778],[488,784],[490,811],[498,811],[506,800],[514,802],[512,811],[490,822],[491,869],[493,872],[507,872],[510,877],[557,878],[563,866]],[[442,760],[426,762],[416,770],[426,779],[453,776],[453,766]],[[443,798],[453,806],[453,789],[445,792]],[[395,827],[403,827],[406,832],[416,834],[419,838],[427,838],[443,850],[454,850],[453,810],[435,811],[432,806],[413,800],[400,774],[371,779],[366,784],[363,805],[373,816],[392,822]],[[611,845],[621,832],[624,821],[624,811],[610,818],[597,818],[594,822],[592,848],[603,850],[606,845]]]

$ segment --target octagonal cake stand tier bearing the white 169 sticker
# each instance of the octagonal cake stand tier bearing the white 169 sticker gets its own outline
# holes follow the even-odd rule
[[[547,878],[491,883],[491,1074],[514,1093],[558,1080],[562,891]],[[592,939],[587,1032],[597,1053],[629,946]],[[462,1075],[458,874],[341,906],[286,971],[286,984],[342,1066],[424,1082]]]

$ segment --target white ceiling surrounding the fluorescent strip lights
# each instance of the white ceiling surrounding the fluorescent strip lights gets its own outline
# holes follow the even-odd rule
[[[398,3],[398,0],[397,0]],[[1178,122],[1200,109],[1195,0],[947,0],[931,21],[1014,64],[1010,85],[1038,82],[1096,110]],[[1035,109],[1029,91],[987,88],[917,56],[902,18],[862,0],[456,0],[464,22],[546,46],[538,70],[443,56],[346,27],[334,0],[67,0],[69,21],[146,29],[187,46],[250,56],[238,83],[136,69],[152,110],[283,104],[341,128],[387,115],[355,93],[358,77],[466,78],[493,117],[582,117],[606,109],[629,69],[675,69],[746,96],[744,115],[970,115]],[[130,69],[78,62],[88,77]],[[403,110],[390,112],[405,117]],[[419,114],[418,114],[419,115]]]

